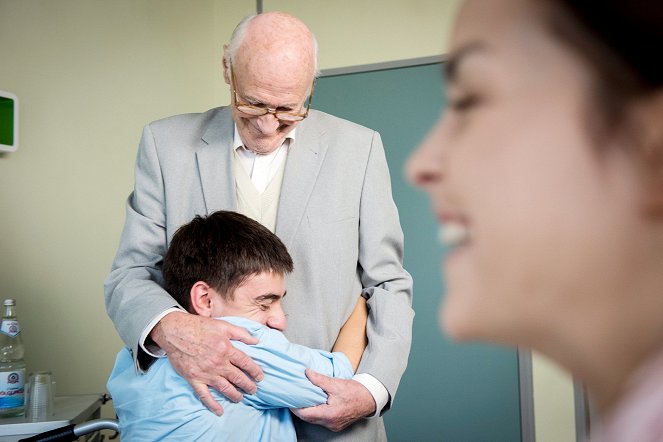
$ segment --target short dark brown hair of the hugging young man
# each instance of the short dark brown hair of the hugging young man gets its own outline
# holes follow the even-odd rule
[[[165,289],[192,312],[191,287],[204,281],[221,296],[247,277],[262,272],[292,272],[292,258],[281,240],[260,223],[235,212],[196,216],[180,227],[163,261]]]

